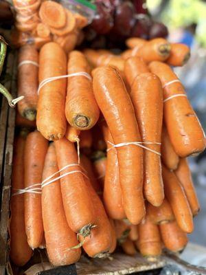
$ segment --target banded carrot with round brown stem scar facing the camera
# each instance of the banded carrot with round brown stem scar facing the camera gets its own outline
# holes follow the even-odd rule
[[[68,73],[86,72],[90,74],[89,63],[81,52],[69,54]],[[69,124],[80,130],[91,129],[98,121],[100,110],[93,96],[91,80],[85,76],[69,78],[65,109]]]

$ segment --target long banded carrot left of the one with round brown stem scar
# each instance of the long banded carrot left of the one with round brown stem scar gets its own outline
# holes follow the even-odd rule
[[[43,2],[43,3],[47,3]],[[39,58],[39,82],[66,74],[65,52],[54,42],[41,48]],[[66,78],[54,80],[43,86],[38,96],[36,124],[47,140],[58,140],[65,135]]]

